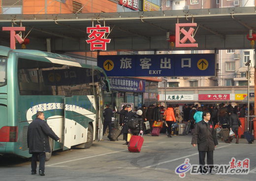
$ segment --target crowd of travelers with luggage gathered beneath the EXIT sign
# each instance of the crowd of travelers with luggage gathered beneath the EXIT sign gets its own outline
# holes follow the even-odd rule
[[[106,127],[109,126],[109,122],[113,116],[109,111],[109,105],[107,105],[104,110],[103,115],[107,116],[107,119],[104,119],[104,132]],[[244,104],[241,108],[238,106],[232,107],[230,104],[226,105],[221,103],[220,105],[201,105],[198,104],[185,104],[183,107],[178,104],[167,105],[167,108],[161,106],[160,103],[155,105],[149,105],[146,107],[143,105],[137,110],[137,112],[132,111],[131,105],[124,105],[121,111],[118,111],[119,114],[119,124],[122,126],[122,133],[124,135],[123,139],[125,140],[125,145],[128,144],[128,134],[132,133],[133,135],[138,134],[151,134],[153,130],[154,121],[162,121],[163,125],[161,128],[162,133],[166,133],[167,137],[171,138],[172,136],[178,135],[178,129],[180,123],[190,122],[189,132],[193,134],[195,124],[202,121],[203,112],[210,113],[210,122],[217,128],[221,127],[224,129],[232,130],[236,135],[238,135],[238,128],[241,127],[241,122],[238,119],[239,117],[244,118],[247,115],[247,104]],[[250,115],[254,115],[254,108],[251,106]],[[137,122],[136,128],[129,127],[129,121],[135,119]],[[149,121],[150,129],[145,129],[145,122]],[[232,141],[232,137],[228,137],[224,140],[226,143]],[[239,137],[236,136],[236,143],[238,143]]]

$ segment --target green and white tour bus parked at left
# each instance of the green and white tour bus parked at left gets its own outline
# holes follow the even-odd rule
[[[102,138],[105,72],[64,55],[0,46],[0,154],[31,157],[27,132],[43,111],[61,143],[52,151],[90,148]],[[46,154],[46,159],[51,153]]]

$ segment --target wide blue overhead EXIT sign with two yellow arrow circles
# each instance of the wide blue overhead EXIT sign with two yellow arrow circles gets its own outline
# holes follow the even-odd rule
[[[107,76],[215,76],[214,54],[98,56]]]

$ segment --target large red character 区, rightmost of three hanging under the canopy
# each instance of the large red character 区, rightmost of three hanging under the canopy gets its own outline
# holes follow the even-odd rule
[[[194,37],[192,36],[192,33],[194,32],[193,28],[190,28],[188,31],[184,28],[180,29],[180,27],[196,27],[196,23],[177,23],[176,24],[176,41],[175,46],[176,47],[198,47],[197,43],[195,42]],[[184,34],[184,37],[180,39],[180,32]],[[185,43],[187,40],[189,40],[191,43]]]

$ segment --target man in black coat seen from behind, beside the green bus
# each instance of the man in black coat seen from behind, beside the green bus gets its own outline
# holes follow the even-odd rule
[[[44,164],[45,164],[45,152],[51,152],[49,145],[49,137],[55,141],[60,138],[53,132],[46,121],[44,120],[43,112],[38,111],[36,113],[36,119],[32,121],[28,129],[28,148],[31,159],[31,174],[36,174],[36,161],[39,158],[39,175],[44,176]]]

